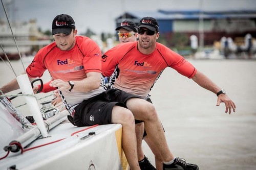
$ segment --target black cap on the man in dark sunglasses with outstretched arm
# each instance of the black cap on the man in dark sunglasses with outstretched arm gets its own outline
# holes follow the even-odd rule
[[[157,20],[150,16],[144,17],[140,20],[138,29],[142,27],[145,27],[151,31],[159,31],[159,25]]]

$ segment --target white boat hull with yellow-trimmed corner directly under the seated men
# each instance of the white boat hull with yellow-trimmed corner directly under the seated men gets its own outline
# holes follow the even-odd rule
[[[70,135],[84,128],[86,127],[74,127],[70,123],[60,124],[49,132],[51,137],[37,139],[28,148],[61,138],[66,139],[23,154],[10,153],[7,158],[0,160],[0,169],[7,169],[13,165],[19,170],[127,168],[121,149],[122,127],[120,124],[101,125],[73,136]],[[95,132],[96,135],[84,140],[80,139],[89,132]],[[124,167],[122,167],[121,160],[124,160]]]

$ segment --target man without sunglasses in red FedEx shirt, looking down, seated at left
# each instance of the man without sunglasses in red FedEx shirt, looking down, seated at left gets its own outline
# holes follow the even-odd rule
[[[26,69],[30,81],[40,78],[48,69],[53,78],[50,86],[58,88],[70,112],[69,120],[75,126],[121,124],[124,154],[130,169],[139,170],[132,112],[145,114],[144,108],[151,108],[151,105],[137,95],[104,89],[100,48],[90,38],[77,36],[71,16],[56,16],[52,22],[52,35],[55,41],[41,48]],[[14,79],[1,90],[7,93],[18,88]]]

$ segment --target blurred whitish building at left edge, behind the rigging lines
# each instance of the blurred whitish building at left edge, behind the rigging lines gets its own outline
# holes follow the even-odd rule
[[[31,56],[41,47],[51,43],[50,37],[45,36],[38,31],[36,20],[30,20],[29,22],[12,22],[10,25],[22,57]],[[0,44],[3,46],[4,52],[9,59],[19,59],[19,54],[9,24],[1,20]],[[0,56],[3,59],[6,59],[4,52],[1,48]]]

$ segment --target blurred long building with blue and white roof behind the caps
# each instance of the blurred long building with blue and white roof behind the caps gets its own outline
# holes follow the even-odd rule
[[[129,19],[137,25],[145,16],[152,16],[158,20],[162,34],[184,33],[187,36],[203,35],[206,45],[225,37],[239,41],[246,34],[256,37],[256,10],[253,11],[200,11],[200,10],[158,10],[158,11],[130,11],[116,18],[116,26]],[[237,39],[236,39],[237,38]],[[200,41],[200,39],[199,39]]]

